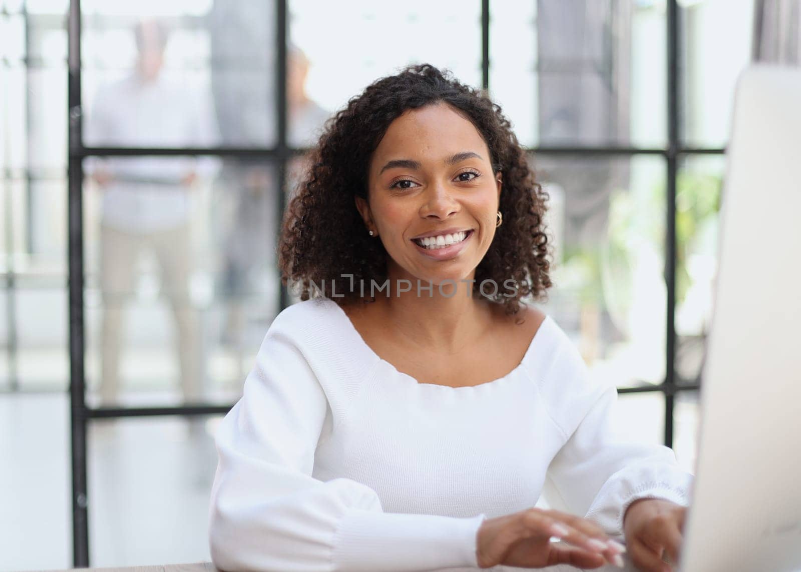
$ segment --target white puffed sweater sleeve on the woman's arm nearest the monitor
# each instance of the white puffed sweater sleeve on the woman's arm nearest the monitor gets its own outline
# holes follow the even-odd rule
[[[546,473],[545,500],[623,540],[623,516],[632,502],[659,498],[688,506],[693,475],[679,468],[673,449],[622,435],[614,425],[617,389],[592,379],[578,349],[559,332],[562,341],[539,387],[566,442]]]

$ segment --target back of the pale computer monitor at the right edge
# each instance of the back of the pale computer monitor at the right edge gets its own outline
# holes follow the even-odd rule
[[[801,570],[801,68],[743,72],[677,570]]]

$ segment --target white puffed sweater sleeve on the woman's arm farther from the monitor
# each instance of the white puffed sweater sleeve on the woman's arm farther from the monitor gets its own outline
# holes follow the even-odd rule
[[[484,520],[384,513],[348,478],[312,477],[329,401],[290,328],[277,316],[244,393],[215,435],[209,542],[220,570],[434,570],[477,566]],[[284,320],[285,322],[286,320]]]

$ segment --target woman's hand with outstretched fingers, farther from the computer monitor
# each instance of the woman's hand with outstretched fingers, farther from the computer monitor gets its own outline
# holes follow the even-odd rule
[[[574,546],[550,542],[554,536]],[[620,554],[626,551],[594,522],[536,507],[485,519],[478,529],[476,546],[480,568],[497,564],[520,568],[544,568],[554,564],[598,568],[606,562],[622,568]]]

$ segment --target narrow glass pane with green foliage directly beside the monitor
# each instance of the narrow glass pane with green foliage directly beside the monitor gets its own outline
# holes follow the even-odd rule
[[[678,383],[698,381],[712,319],[718,268],[723,155],[682,160],[676,189],[676,373]]]

